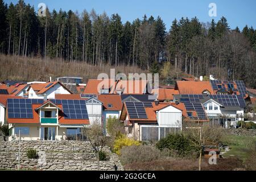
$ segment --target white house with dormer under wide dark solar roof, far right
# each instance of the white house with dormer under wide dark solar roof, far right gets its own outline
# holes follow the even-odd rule
[[[175,102],[183,102],[189,108],[197,109],[195,105],[203,105],[209,118],[210,125],[236,126],[246,107],[241,95],[207,95],[207,94],[181,94],[174,96]]]

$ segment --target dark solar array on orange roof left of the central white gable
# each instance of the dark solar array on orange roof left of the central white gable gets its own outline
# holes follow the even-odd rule
[[[152,107],[151,102],[125,102],[131,119],[147,119],[145,107]]]

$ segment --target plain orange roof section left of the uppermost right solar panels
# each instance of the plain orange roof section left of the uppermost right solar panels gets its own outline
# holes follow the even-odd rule
[[[202,94],[204,90],[214,94],[209,81],[177,81],[176,89],[180,94]]]

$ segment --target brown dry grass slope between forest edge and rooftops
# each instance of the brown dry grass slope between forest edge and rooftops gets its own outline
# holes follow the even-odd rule
[[[20,81],[46,81],[49,77],[59,76],[79,76],[84,81],[89,78],[97,78],[98,74],[106,73],[110,75],[109,65],[90,65],[82,62],[68,63],[61,59],[42,59],[38,57],[21,57],[0,55],[0,80],[20,80]],[[138,67],[128,67],[118,65],[115,74],[142,73]]]

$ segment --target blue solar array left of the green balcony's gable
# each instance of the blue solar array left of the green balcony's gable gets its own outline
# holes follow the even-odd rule
[[[40,99],[8,98],[9,118],[33,118],[32,104],[43,104]]]

